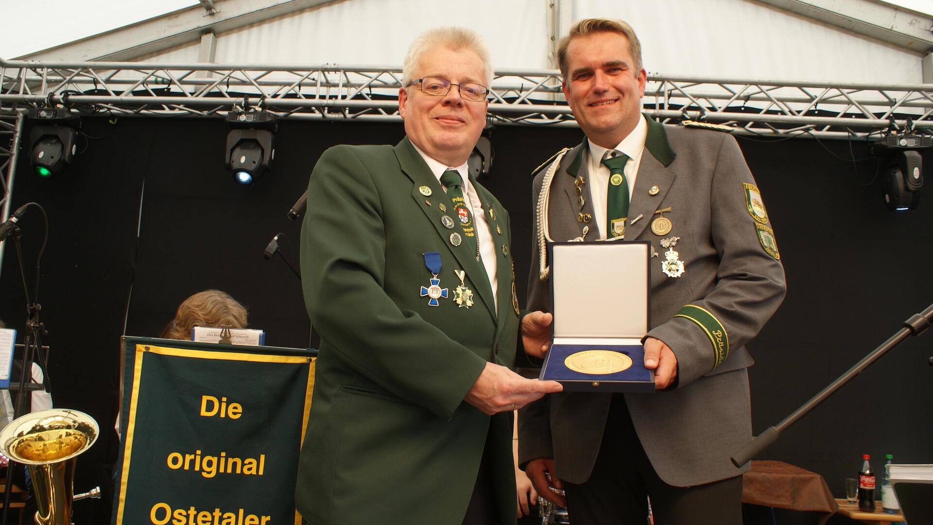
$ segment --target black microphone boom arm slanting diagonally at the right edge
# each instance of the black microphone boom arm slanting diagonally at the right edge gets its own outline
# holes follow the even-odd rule
[[[835,381],[829,384],[828,387],[821,390],[816,394],[813,399],[803,404],[800,408],[795,410],[791,415],[787,416],[783,421],[778,423],[776,426],[768,427],[763,433],[760,433],[757,437],[752,438],[739,453],[735,454],[730,458],[732,464],[741,467],[748,461],[751,461],[752,458],[759,455],[759,453],[767,447],[773,445],[777,438],[782,432],[787,430],[787,427],[794,424],[798,419],[801,419],[808,412],[813,410],[818,404],[823,403],[826,399],[844,386],[846,383],[854,379],[856,376],[861,374],[866,368],[874,364],[874,362],[884,356],[892,348],[897,347],[900,343],[904,342],[908,337],[912,335],[920,335],[924,333],[927,328],[930,326],[930,322],[933,322],[933,305],[926,307],[926,310],[919,314],[913,314],[909,319],[905,320],[902,324],[903,328],[898,330],[897,333],[891,336],[890,339],[884,341],[880,347],[875,348],[871,353],[861,361],[856,362],[855,366],[850,368],[845,374],[836,378]],[[933,358],[930,358],[933,360]],[[933,361],[930,361],[930,365],[933,366]]]

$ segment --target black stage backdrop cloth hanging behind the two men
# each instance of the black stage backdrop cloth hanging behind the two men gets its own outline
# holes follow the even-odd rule
[[[95,138],[86,148],[79,143],[77,164],[49,180],[33,176],[24,144],[13,195],[15,206],[36,201],[49,212],[39,300],[55,405],[86,411],[102,427],[97,444],[78,460],[77,491],[109,485],[117,443],[104,429],[116,419],[119,336],[158,335],[188,295],[217,288],[248,306],[250,326],[266,330],[269,345],[305,347],[310,324],[299,280],[279,256],[264,260],[262,250],[283,232],[285,255],[297,257],[299,223],[285,212],[324,149],[394,144],[403,136],[394,123],[284,122],[272,173],[244,187],[224,168],[222,121],[85,118],[84,131]],[[495,157],[484,184],[511,213],[522,303],[532,246],[528,174],[581,136],[572,129],[492,131]],[[760,433],[933,303],[933,201],[910,212],[885,209],[877,163],[862,142],[739,137],[739,143],[787,271],[787,300],[749,345],[757,361],[750,376]],[[924,157],[933,165],[931,152]],[[41,218],[30,210],[21,225],[32,280]],[[21,330],[15,255],[7,243],[0,319]],[[759,459],[820,473],[837,496],[863,453],[878,469],[884,453],[899,462],[933,462],[931,337],[911,339],[886,356]],[[76,522],[109,523],[108,496],[105,490],[102,500],[77,503]]]

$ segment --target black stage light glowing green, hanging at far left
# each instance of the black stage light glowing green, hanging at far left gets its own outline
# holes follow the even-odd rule
[[[30,163],[35,175],[50,178],[75,162],[77,127],[80,121],[65,109],[33,108],[30,119],[42,122],[29,135]]]

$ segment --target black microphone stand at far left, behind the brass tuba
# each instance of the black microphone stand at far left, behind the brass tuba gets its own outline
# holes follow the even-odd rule
[[[25,414],[26,410],[26,395],[30,390],[38,390],[39,385],[33,385],[33,361],[34,354],[39,356],[39,359],[42,360],[42,334],[47,333],[45,325],[39,320],[39,312],[42,310],[42,305],[37,303],[39,295],[39,262],[42,259],[42,252],[46,249],[46,242],[49,240],[49,217],[46,215],[46,210],[35,203],[29,203],[30,205],[36,206],[42,212],[42,216],[45,218],[46,234],[45,238],[42,240],[42,247],[39,248],[39,254],[35,260],[35,288],[32,295],[29,291],[29,285],[26,283],[26,272],[25,265],[22,263],[22,245],[20,239],[22,237],[22,232],[18,226],[13,226],[10,234],[13,236],[13,241],[16,245],[16,255],[17,259],[20,262],[20,276],[22,277],[22,288],[26,295],[26,311],[29,313],[29,319],[26,320],[26,331],[23,334],[23,348],[22,348],[22,365],[20,368],[20,384],[16,386],[16,402],[13,409],[13,419],[20,418]],[[29,206],[29,205],[26,205]],[[43,360],[45,361],[45,360]],[[48,366],[47,366],[48,368]],[[28,372],[27,372],[28,371]],[[49,382],[49,371],[46,370],[46,381]],[[27,383],[27,378],[29,383]],[[7,484],[4,489],[3,496],[3,516],[0,518],[0,524],[7,524],[7,511],[9,509],[10,495],[13,491],[13,469],[18,467],[18,463],[9,460],[7,463]],[[28,487],[24,490],[29,490]]]

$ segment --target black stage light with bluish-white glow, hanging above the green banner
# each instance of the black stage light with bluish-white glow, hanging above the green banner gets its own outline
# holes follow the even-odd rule
[[[227,121],[235,128],[227,135],[230,175],[240,184],[252,184],[275,158],[275,122],[267,111],[230,111]]]

